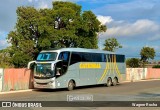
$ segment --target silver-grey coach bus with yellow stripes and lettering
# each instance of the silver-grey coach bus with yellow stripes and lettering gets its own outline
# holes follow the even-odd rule
[[[105,84],[115,86],[125,76],[125,55],[85,48],[43,50],[34,64],[34,88],[55,89]]]

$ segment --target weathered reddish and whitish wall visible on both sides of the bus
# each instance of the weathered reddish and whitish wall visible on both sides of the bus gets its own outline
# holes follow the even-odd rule
[[[126,68],[126,75],[123,75],[121,80],[138,81],[153,78],[160,78],[160,69]],[[33,73],[31,70],[0,68],[0,92],[31,88],[33,88]]]

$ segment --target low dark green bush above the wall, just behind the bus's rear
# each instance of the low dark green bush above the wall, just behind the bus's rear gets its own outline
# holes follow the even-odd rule
[[[138,58],[128,58],[126,60],[127,67],[138,68],[140,67],[140,59]]]

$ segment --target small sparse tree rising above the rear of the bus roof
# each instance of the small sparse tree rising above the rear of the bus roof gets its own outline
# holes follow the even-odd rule
[[[106,39],[104,46],[105,47],[103,50],[112,51],[112,52],[115,52],[116,49],[118,49],[118,48],[122,48],[122,46],[120,45],[120,43],[117,41],[116,38]]]

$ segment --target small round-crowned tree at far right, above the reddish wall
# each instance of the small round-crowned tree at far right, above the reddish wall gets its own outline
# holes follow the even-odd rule
[[[141,61],[144,63],[149,59],[154,59],[155,57],[155,50],[151,47],[143,47],[140,52]]]

